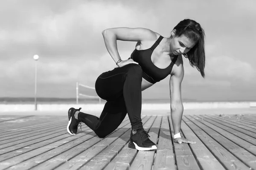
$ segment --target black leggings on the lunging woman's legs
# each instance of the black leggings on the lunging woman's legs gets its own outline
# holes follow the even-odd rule
[[[132,129],[143,128],[141,122],[142,69],[137,64],[102,73],[95,83],[100,98],[107,100],[100,117],[80,112],[78,119],[104,138],[121,124],[128,113]]]

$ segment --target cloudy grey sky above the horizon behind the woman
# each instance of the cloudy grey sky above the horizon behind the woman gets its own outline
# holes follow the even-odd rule
[[[37,96],[75,98],[76,82],[94,87],[116,67],[104,29],[143,27],[169,37],[185,18],[205,31],[206,76],[183,58],[182,98],[256,101],[255,0],[1,0],[0,97],[34,96],[37,54]],[[136,42],[117,44],[128,59]],[[169,76],[143,91],[143,99],[169,98]]]

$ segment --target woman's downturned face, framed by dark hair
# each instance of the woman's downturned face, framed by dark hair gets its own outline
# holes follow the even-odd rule
[[[196,42],[190,40],[188,37],[181,35],[177,37],[173,35],[170,42],[170,52],[174,55],[185,54],[195,46]]]

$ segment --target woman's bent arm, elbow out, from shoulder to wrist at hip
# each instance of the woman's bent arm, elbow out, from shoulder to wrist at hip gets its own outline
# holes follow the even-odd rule
[[[157,37],[154,31],[146,28],[125,27],[105,29],[102,31],[102,35],[106,48],[115,62],[121,59],[117,51],[116,40],[142,42],[147,40],[155,40]],[[132,59],[130,59],[130,62],[137,64],[137,62],[134,62]]]

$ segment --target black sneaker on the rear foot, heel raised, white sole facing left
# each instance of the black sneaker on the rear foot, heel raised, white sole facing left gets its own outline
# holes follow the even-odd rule
[[[75,119],[75,113],[76,111],[80,111],[81,108],[75,109],[75,108],[70,108],[68,110],[68,124],[67,124],[67,132],[70,135],[75,135],[77,133],[77,127],[80,124],[81,127],[81,122],[77,119]]]

